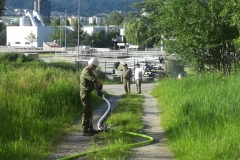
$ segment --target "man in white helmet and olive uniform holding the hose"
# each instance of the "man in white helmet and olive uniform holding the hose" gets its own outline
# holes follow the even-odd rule
[[[83,104],[83,114],[82,114],[82,135],[83,136],[93,136],[98,133],[98,131],[93,129],[92,116],[93,109],[91,104],[91,92],[94,90],[94,85],[96,89],[100,91],[102,89],[102,83],[93,74],[99,65],[97,58],[91,58],[88,61],[88,65],[82,70],[80,76],[80,98]],[[101,96],[101,95],[99,95]]]

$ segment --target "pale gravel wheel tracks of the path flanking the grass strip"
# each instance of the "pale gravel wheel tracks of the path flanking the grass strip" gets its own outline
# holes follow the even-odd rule
[[[143,134],[152,136],[154,142],[152,144],[137,147],[132,149],[132,154],[127,158],[128,160],[173,160],[174,155],[166,147],[166,139],[164,138],[164,130],[161,128],[161,115],[157,107],[157,100],[151,96],[150,92],[154,87],[154,83],[142,84],[142,93],[144,97],[144,115],[142,121],[144,123]],[[132,93],[136,93],[136,87],[131,85]],[[121,84],[104,85],[103,90],[113,94],[109,98],[111,106],[115,106],[124,94],[124,89]],[[105,113],[107,104],[101,105],[93,116],[94,128],[97,129],[97,122],[99,118]],[[72,127],[79,128],[79,121]],[[70,156],[77,153],[82,153],[88,150],[92,137],[82,136],[79,131],[75,131],[64,135],[61,142],[55,146],[55,151],[50,154],[46,160],[55,160],[65,156]],[[80,157],[78,159],[87,159],[87,157]]]

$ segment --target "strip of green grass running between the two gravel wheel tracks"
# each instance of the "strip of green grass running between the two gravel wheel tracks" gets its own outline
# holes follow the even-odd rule
[[[91,150],[108,148],[106,150],[88,155],[90,160],[98,159],[126,159],[131,150],[125,147],[134,143],[134,137],[119,131],[139,132],[143,128],[142,118],[143,97],[136,94],[123,95],[113,114],[106,124],[113,125],[113,130],[94,136]]]

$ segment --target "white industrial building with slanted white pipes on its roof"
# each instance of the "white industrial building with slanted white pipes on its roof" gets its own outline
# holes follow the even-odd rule
[[[45,26],[38,12],[25,12],[25,16],[19,19],[19,26],[7,26],[7,45],[14,47],[42,47],[43,42],[49,42],[48,34],[53,34],[51,26]],[[26,40],[32,33],[37,38],[31,44]]]

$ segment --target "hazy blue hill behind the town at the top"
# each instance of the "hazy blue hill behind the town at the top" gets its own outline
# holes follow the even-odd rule
[[[50,0],[51,11],[64,12],[76,15],[78,13],[78,0]],[[110,13],[112,11],[125,11],[125,1],[127,1],[126,11],[131,10],[131,5],[144,0],[80,0],[80,15],[94,16],[98,13]],[[33,9],[34,0],[7,0],[6,7]]]

